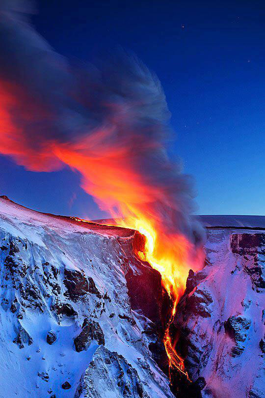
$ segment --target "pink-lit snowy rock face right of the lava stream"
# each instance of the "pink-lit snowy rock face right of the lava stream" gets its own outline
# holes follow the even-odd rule
[[[265,233],[208,229],[172,333],[202,397],[265,397]]]

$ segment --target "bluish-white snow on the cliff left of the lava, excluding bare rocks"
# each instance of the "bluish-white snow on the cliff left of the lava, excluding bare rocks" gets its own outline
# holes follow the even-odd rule
[[[143,326],[130,307],[121,260],[126,253],[118,238],[130,239],[132,233],[38,213],[0,198],[0,247],[7,248],[0,249],[0,397],[74,397],[81,375],[101,347],[94,340],[88,350],[75,350],[74,338],[85,318],[98,322],[106,350],[122,355],[121,363],[127,361],[135,369],[146,394],[173,397],[169,380],[151,358],[142,340]],[[8,253],[11,265],[6,263]],[[87,293],[71,300],[64,284],[66,270],[92,278],[99,297]],[[36,291],[30,293],[32,288]],[[109,299],[104,298],[105,293]],[[71,305],[75,314],[58,315],[57,304]],[[118,314],[135,318],[135,324]],[[20,326],[33,341],[24,348],[13,342]],[[57,335],[52,345],[46,341],[50,330]],[[93,376],[96,370],[91,371]],[[61,387],[66,381],[69,390]],[[96,388],[100,397],[110,396],[106,380]],[[113,397],[118,396],[122,389],[115,387]]]

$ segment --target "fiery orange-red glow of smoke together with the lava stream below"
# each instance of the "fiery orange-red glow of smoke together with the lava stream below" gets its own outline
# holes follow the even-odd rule
[[[159,142],[143,140],[131,144],[130,134],[115,144],[109,140],[114,127],[89,131],[74,142],[60,142],[58,139],[45,138],[34,140],[24,136],[20,123],[32,121],[38,127],[38,119],[49,120],[47,109],[34,103],[32,98],[11,85],[0,85],[0,153],[11,155],[18,164],[31,171],[52,171],[63,164],[81,174],[81,186],[94,197],[101,209],[107,210],[113,218],[122,218],[118,224],[138,230],[146,236],[144,252],[138,252],[141,260],[148,261],[161,274],[162,283],[174,303],[170,322],[176,311],[179,298],[185,290],[188,271],[200,268],[201,252],[181,233],[167,228],[164,208],[172,211],[177,206],[172,198],[154,181],[145,180],[145,171],[138,169],[139,153],[142,158],[145,151],[156,150]],[[17,94],[12,94],[15,91]],[[24,104],[27,107],[24,111]],[[23,120],[14,120],[13,108],[20,108]],[[111,126],[111,124],[109,124]],[[37,132],[36,132],[37,134]],[[135,136],[133,136],[135,140]],[[37,142],[37,147],[36,147]],[[137,152],[137,153],[136,153]],[[164,207],[163,207],[164,206]],[[183,360],[177,355],[166,329],[164,343],[171,367],[185,373]]]

